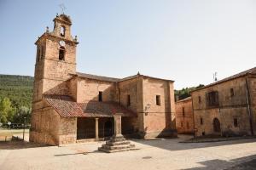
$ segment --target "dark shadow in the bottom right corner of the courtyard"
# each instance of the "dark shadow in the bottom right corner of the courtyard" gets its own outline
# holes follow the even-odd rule
[[[224,160],[209,160],[209,161],[200,161],[197,162],[200,164],[200,167],[187,168],[186,170],[215,170],[215,169],[224,169],[224,170],[253,170],[256,169],[256,155],[244,156],[241,158],[233,159],[230,161]]]

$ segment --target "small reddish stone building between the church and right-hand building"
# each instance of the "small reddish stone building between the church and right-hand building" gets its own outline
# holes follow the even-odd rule
[[[194,117],[191,97],[178,100],[175,103],[175,118],[177,133],[194,133]]]

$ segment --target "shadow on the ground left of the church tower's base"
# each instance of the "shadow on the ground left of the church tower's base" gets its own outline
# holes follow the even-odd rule
[[[0,141],[0,150],[20,150],[27,148],[49,147],[47,144],[37,144],[23,140]]]

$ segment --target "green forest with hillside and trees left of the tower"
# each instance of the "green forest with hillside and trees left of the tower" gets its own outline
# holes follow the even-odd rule
[[[30,122],[33,77],[0,75],[0,122]]]

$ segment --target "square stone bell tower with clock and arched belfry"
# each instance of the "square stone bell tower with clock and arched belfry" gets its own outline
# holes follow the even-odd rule
[[[68,92],[66,81],[76,73],[77,38],[71,35],[72,21],[66,14],[56,15],[54,30],[46,31],[37,42],[33,103],[43,94]]]

